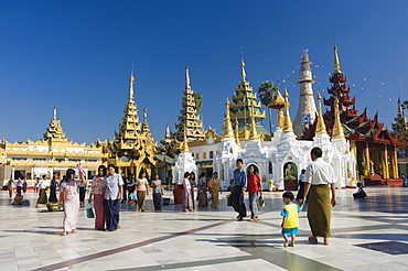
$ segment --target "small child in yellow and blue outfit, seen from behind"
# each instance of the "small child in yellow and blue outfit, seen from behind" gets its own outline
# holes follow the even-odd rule
[[[294,238],[298,234],[299,227],[299,218],[298,213],[301,210],[299,205],[293,204],[292,200],[294,198],[293,194],[289,191],[284,192],[283,195],[283,203],[286,204],[282,208],[280,215],[282,216],[282,236],[284,239],[283,247],[287,248],[294,246]],[[288,240],[288,236],[290,235],[290,243]]]

